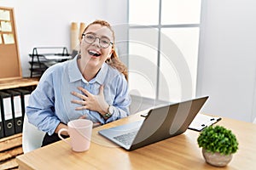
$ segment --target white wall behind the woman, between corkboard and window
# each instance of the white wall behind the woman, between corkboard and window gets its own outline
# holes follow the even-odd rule
[[[0,0],[0,6],[15,10],[15,24],[23,77],[29,77],[29,56],[34,47],[70,49],[72,22],[127,21],[126,0]],[[0,52],[1,53],[1,52]]]

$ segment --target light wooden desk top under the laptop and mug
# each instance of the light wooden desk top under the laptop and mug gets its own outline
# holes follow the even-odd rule
[[[73,152],[60,141],[18,156],[19,169],[218,169],[204,161],[196,141],[199,133],[192,130],[133,151],[125,151],[97,133],[99,129],[141,118],[139,114],[132,115],[94,128],[90,150],[83,153]],[[221,169],[255,169],[256,125],[228,118],[218,124],[230,128],[239,141],[232,161]]]

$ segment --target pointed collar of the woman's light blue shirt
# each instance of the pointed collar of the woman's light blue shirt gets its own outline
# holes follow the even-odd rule
[[[78,65],[78,55],[75,56],[74,59],[72,59],[68,65],[68,76],[70,82],[76,82],[79,80],[83,80],[81,72],[79,71],[79,65]],[[97,73],[96,77],[92,79],[90,82],[98,82],[102,84],[107,77],[108,74],[108,64],[103,63],[101,70]]]

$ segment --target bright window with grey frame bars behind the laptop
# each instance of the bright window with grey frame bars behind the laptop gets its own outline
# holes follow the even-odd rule
[[[195,97],[201,0],[129,0],[131,94]]]

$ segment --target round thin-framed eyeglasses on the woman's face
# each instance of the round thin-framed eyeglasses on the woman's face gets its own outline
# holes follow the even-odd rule
[[[82,36],[84,37],[84,42],[87,42],[90,44],[95,42],[96,38],[98,38],[101,48],[108,48],[110,44],[113,45],[113,42],[110,42],[108,37],[96,37],[94,34],[90,34],[90,33],[82,34]]]

